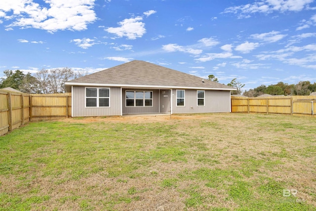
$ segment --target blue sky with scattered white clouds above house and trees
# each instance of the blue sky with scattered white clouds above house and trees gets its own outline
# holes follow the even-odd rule
[[[316,82],[316,0],[5,0],[0,77],[143,60],[243,90]],[[128,77],[128,76],[126,76]]]

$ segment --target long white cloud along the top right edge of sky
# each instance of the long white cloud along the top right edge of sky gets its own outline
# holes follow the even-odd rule
[[[314,0],[258,0],[240,6],[228,7],[223,13],[234,13],[238,18],[249,18],[253,13],[272,13],[274,11],[302,11],[308,9]]]

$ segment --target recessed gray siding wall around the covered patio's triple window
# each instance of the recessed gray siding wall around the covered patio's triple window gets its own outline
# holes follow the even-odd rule
[[[146,107],[126,107],[125,91],[153,91],[153,106]],[[123,114],[137,113],[159,113],[159,90],[158,89],[138,89],[138,88],[123,88],[122,89],[122,106]]]

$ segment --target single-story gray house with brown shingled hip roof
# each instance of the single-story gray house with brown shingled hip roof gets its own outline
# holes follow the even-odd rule
[[[66,82],[72,117],[231,112],[232,86],[134,60]]]

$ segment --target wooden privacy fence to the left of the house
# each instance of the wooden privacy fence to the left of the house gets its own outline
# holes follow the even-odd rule
[[[0,90],[0,135],[29,121],[71,117],[71,93],[24,94]]]

